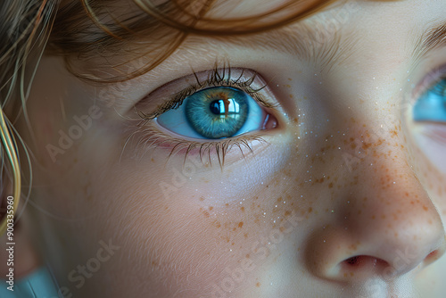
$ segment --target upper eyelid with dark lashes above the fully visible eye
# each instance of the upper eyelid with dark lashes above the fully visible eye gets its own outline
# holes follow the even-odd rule
[[[218,78],[216,78],[218,77]],[[194,83],[190,83],[189,81],[194,79]],[[155,108],[154,112],[145,113],[145,102],[151,102],[147,97],[159,97],[156,95],[158,92],[163,92],[163,89],[169,88],[171,84],[175,84],[178,81],[186,81],[186,86],[180,91],[166,95],[166,99],[163,99],[163,103],[158,104]],[[255,85],[256,88],[252,88],[252,85]],[[169,109],[172,109],[178,106],[178,103],[182,103],[182,101],[188,95],[194,94],[194,92],[198,92],[207,87],[238,87],[244,92],[248,93],[252,96],[256,102],[260,103],[266,108],[275,108],[279,104],[273,103],[268,99],[268,96],[260,95],[260,91],[264,88],[268,87],[268,84],[263,81],[260,74],[255,70],[244,69],[244,68],[215,68],[213,70],[203,70],[200,72],[194,72],[193,74],[184,76],[179,79],[174,79],[167,84],[164,84],[162,87],[154,90],[151,94],[146,95],[144,99],[142,99],[139,103],[136,103],[135,108],[136,112],[141,116],[144,120],[152,120],[162,112],[167,112]],[[169,93],[169,92],[168,92]],[[164,97],[164,96],[160,96]],[[162,112],[160,112],[162,110]]]

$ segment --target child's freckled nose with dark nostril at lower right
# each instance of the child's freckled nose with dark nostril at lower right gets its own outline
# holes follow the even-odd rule
[[[339,183],[357,183],[334,187],[333,211],[309,236],[307,266],[318,277],[391,281],[445,252],[442,219],[404,153],[392,159],[372,155],[345,170]]]

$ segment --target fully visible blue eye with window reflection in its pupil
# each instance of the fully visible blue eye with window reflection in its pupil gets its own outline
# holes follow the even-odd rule
[[[161,127],[184,137],[219,139],[262,129],[266,113],[241,89],[209,87],[185,98],[156,118]]]

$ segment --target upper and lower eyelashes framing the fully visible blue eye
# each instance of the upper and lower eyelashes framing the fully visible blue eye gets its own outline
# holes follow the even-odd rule
[[[252,96],[252,98],[260,103],[262,106],[271,109],[277,107],[278,104],[268,102],[259,94],[259,92],[267,85],[264,85],[263,87],[260,87],[258,89],[252,88],[252,84],[257,77],[256,72],[253,73],[251,78],[242,80],[245,70],[241,70],[242,72],[237,79],[231,79],[231,71],[233,70],[234,69],[232,69],[230,66],[219,68],[216,64],[214,69],[211,70],[210,75],[208,75],[208,78],[204,81],[200,81],[200,79],[198,78],[198,74],[194,72],[196,83],[190,85],[189,87],[186,87],[178,94],[173,95],[173,97],[167,100],[165,103],[161,103],[156,108],[155,112],[147,114],[136,108],[136,113],[140,117],[140,122],[137,125],[138,129],[136,130],[136,132],[132,133],[128,137],[126,144],[131,137],[140,134],[141,137],[138,139],[137,145],[143,146],[141,151],[142,155],[144,155],[145,152],[150,149],[155,149],[157,147],[161,147],[162,145],[169,145],[172,147],[172,149],[170,150],[167,161],[169,161],[169,158],[171,156],[174,156],[181,152],[185,153],[184,160],[186,161],[187,155],[196,148],[198,149],[198,154],[202,163],[204,163],[203,157],[207,156],[210,165],[212,165],[211,153],[215,153],[219,160],[219,166],[221,169],[225,164],[225,157],[227,152],[233,146],[238,147],[240,152],[242,153],[242,156],[245,158],[244,148],[248,149],[250,153],[253,153],[251,145],[253,141],[259,141],[262,145],[268,145],[268,142],[260,137],[260,133],[253,134],[249,137],[242,135],[226,138],[221,141],[197,142],[169,136],[161,132],[160,130],[157,130],[156,128],[154,128],[154,125],[152,125],[153,120],[156,117],[160,116],[163,112],[168,112],[171,109],[177,109],[184,102],[187,96],[193,95],[195,92],[198,92],[206,87],[237,87],[246,92],[248,95]],[[141,148],[137,148],[138,152],[140,149]]]

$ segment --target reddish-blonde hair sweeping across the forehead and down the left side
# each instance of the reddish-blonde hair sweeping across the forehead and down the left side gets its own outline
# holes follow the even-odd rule
[[[170,0],[158,6],[149,0],[133,0],[141,13],[124,17],[111,15],[104,9],[110,6],[111,1],[73,0],[59,7],[59,0],[6,0],[0,4],[0,37],[3,41],[0,49],[0,203],[4,204],[3,198],[12,188],[13,214],[16,214],[24,169],[19,158],[20,148],[28,160],[29,191],[31,189],[29,154],[12,125],[12,112],[17,112],[16,116],[22,112],[28,122],[26,99],[44,50],[49,54],[62,55],[67,69],[79,79],[117,82],[152,70],[169,57],[189,34],[229,36],[276,29],[306,18],[334,1],[288,1],[273,10],[246,18],[211,19],[206,14],[216,5],[215,0]],[[78,71],[78,66],[72,62],[72,58],[78,61],[104,55],[105,47],[119,52],[125,48],[124,43],[138,36],[144,36],[148,42],[142,46],[135,43],[139,49],[145,49],[144,52],[138,49],[135,52],[140,56],[154,53],[156,58],[131,74],[98,78],[86,71]],[[9,117],[5,111],[9,112]],[[6,230],[7,223],[8,217],[4,216],[0,221],[0,235]]]

